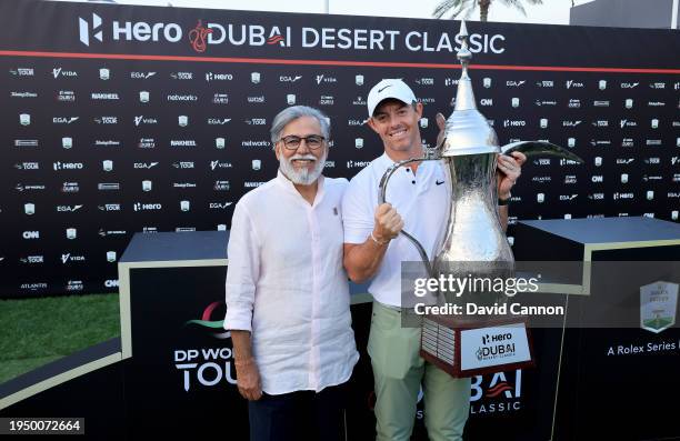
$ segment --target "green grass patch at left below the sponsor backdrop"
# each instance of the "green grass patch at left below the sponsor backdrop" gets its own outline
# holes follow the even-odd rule
[[[0,383],[120,335],[118,294],[0,300]]]

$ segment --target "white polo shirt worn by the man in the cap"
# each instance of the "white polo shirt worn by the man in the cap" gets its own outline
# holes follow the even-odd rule
[[[380,179],[394,163],[387,153],[371,161],[352,180],[342,199],[346,243],[363,243],[370,237],[378,207]],[[443,239],[450,189],[441,161],[423,161],[413,173],[410,166],[399,168],[387,188],[387,202],[403,219],[403,230],[423,245],[430,260]],[[378,272],[369,285],[373,298],[384,304],[401,307],[401,262],[421,262],[417,248],[399,234],[390,241]],[[406,292],[412,297],[412,292]]]

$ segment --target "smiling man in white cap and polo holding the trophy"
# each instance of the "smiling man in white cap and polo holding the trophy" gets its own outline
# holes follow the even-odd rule
[[[350,182],[342,200],[344,268],[354,282],[371,279],[373,313],[368,352],[376,390],[377,440],[409,440],[418,393],[424,392],[424,422],[430,440],[461,440],[470,409],[470,379],[454,379],[419,355],[420,329],[401,327],[401,262],[420,261],[416,248],[399,235],[413,234],[429,255],[447,221],[450,189],[439,161],[400,168],[390,180],[390,203],[379,204],[378,188],[394,162],[422,157],[418,121],[422,103],[401,80],[387,79],[369,92],[368,126],[383,143],[384,153]],[[437,116],[443,129],[443,116]],[[526,160],[500,156],[499,203],[503,224],[510,189]]]

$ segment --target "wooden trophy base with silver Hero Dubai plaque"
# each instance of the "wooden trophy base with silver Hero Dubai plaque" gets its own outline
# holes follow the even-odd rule
[[[526,318],[459,320],[424,315],[420,357],[451,377],[534,367]]]

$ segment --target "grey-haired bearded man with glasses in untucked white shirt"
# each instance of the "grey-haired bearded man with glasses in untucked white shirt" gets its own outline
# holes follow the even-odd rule
[[[251,440],[344,440],[344,383],[359,359],[342,267],[347,179],[321,174],[330,124],[294,106],[273,120],[274,179],[236,206],[227,315]],[[311,428],[310,428],[311,422]]]

